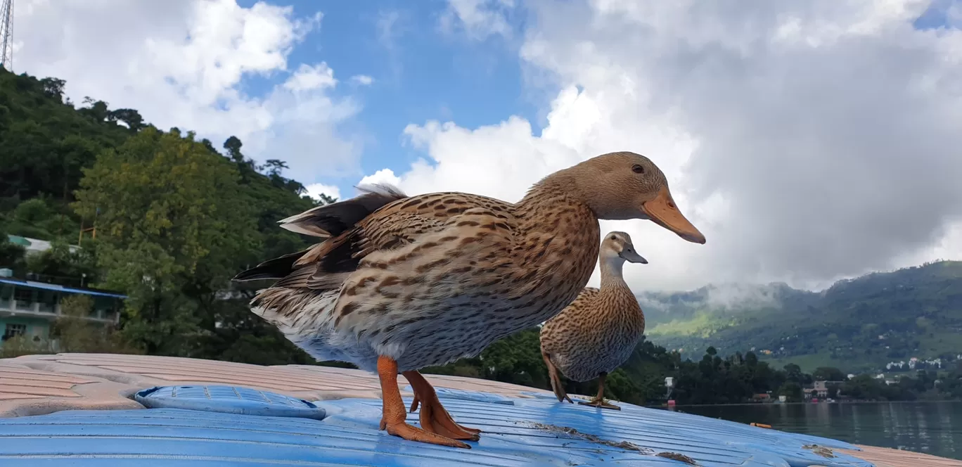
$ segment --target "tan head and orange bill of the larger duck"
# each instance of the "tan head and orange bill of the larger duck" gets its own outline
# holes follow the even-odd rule
[[[646,219],[689,242],[705,243],[705,236],[674,204],[665,174],[641,154],[602,154],[556,174],[598,219]]]

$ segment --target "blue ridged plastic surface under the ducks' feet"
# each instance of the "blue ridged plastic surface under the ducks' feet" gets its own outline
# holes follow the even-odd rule
[[[841,441],[627,403],[615,411],[447,389],[440,397],[451,415],[482,430],[481,440],[465,450],[379,431],[381,402],[376,399],[300,403],[273,393],[241,394],[251,390],[235,392],[231,386],[178,388],[194,391],[171,398],[173,389],[152,388],[142,397],[157,394],[154,399],[177,400],[180,408],[69,410],[0,419],[0,465],[114,467],[146,460],[184,467],[873,467],[828,451],[858,450]],[[261,408],[307,409],[303,413],[313,418],[293,412],[259,415],[269,413],[259,403]],[[219,410],[212,411],[215,405]],[[232,406],[248,410],[238,413]],[[417,425],[418,414],[409,414],[408,423]]]

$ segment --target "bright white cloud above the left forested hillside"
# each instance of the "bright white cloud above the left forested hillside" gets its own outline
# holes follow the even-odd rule
[[[299,173],[356,172],[361,144],[339,125],[359,105],[332,93],[338,83],[326,64],[291,70],[288,62],[320,13],[297,18],[291,7],[234,0],[34,0],[17,2],[15,20],[16,70],[66,80],[74,102],[89,95],[133,108],[216,145],[234,135],[248,156],[282,159]],[[282,84],[251,96],[241,80],[254,75]]]

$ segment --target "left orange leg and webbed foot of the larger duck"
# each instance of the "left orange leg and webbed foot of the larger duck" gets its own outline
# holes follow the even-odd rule
[[[405,422],[407,411],[404,407],[404,401],[401,400],[401,392],[397,388],[397,362],[385,356],[378,357],[377,374],[381,379],[381,399],[383,402],[381,429],[387,429],[388,434],[409,441],[470,449],[469,445],[461,441],[437,432],[408,425]]]

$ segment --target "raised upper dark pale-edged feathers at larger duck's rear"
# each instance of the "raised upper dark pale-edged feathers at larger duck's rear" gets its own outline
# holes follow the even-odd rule
[[[313,237],[335,237],[371,213],[407,197],[390,185],[358,187],[363,195],[304,211],[280,221],[281,227]]]

